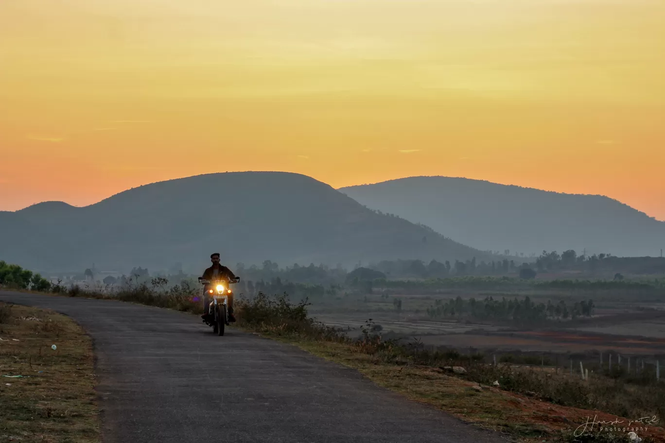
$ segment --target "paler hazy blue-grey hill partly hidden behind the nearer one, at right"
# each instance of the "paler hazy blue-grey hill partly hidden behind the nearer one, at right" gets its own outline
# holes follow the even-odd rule
[[[586,248],[587,253],[657,256],[665,248],[665,222],[600,195],[451,177],[409,177],[340,191],[483,250],[581,254]]]

